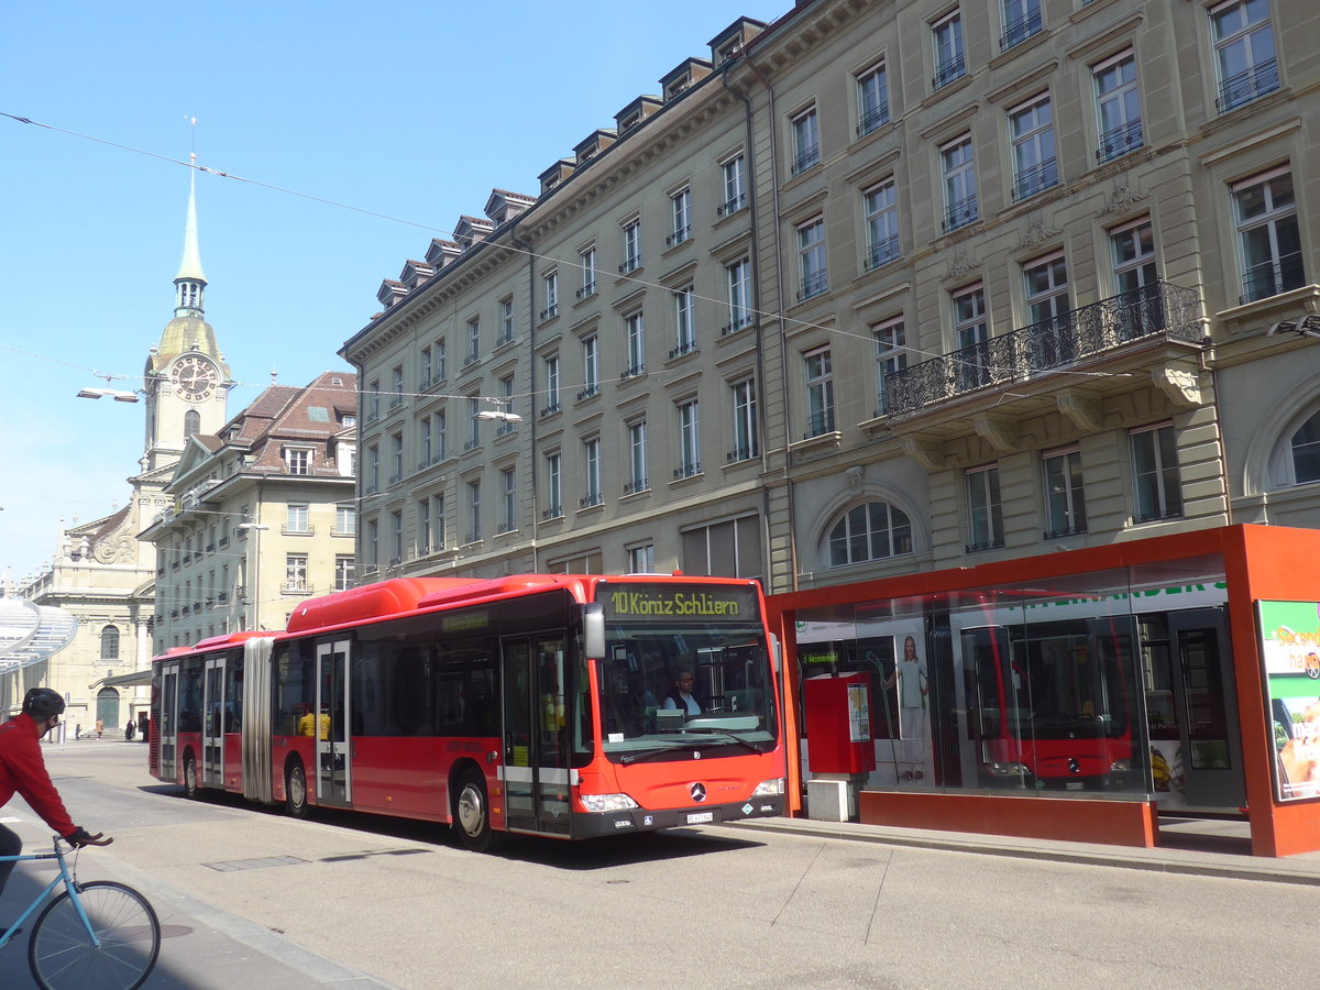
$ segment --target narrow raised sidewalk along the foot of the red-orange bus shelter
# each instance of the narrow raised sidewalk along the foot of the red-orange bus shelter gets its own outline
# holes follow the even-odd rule
[[[1010,855],[1027,859],[1113,866],[1127,870],[1229,876],[1243,880],[1274,880],[1320,886],[1320,853],[1303,853],[1284,859],[1251,855],[1245,821],[1206,818],[1160,818],[1160,842],[1155,849],[1102,846],[1092,842],[1059,842],[982,836],[964,832],[902,829],[888,825],[812,821],[810,818],[747,818],[729,828],[750,832],[779,832],[891,846],[941,849],[983,855]]]

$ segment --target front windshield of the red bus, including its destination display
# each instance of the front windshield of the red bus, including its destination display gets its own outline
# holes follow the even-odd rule
[[[627,589],[598,594],[606,756],[635,763],[774,750],[775,690],[755,589]]]

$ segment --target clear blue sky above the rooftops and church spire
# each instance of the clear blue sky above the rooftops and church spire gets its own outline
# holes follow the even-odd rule
[[[544,169],[709,55],[737,17],[789,7],[8,5],[0,112],[49,127],[0,117],[0,574],[22,578],[75,516],[127,499],[144,405],[75,392],[107,384],[98,372],[140,387],[173,315],[178,162],[194,140],[198,164],[267,183],[198,174],[206,315],[240,383],[234,414],[272,371],[301,385],[342,367],[380,280],[480,215],[492,187],[535,194]]]

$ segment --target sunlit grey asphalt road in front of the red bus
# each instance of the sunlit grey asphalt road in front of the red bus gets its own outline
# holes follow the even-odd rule
[[[737,826],[477,855],[424,822],[189,801],[145,758],[70,743],[48,764],[74,820],[115,836],[84,878],[156,904],[148,989],[1200,989],[1315,969],[1316,887]],[[29,849],[46,836],[21,799],[0,818]],[[37,879],[16,874],[0,920]],[[0,950],[4,987],[26,986],[24,952]]]

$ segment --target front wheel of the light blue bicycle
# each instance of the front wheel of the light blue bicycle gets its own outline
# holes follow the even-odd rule
[[[28,962],[44,990],[135,990],[156,965],[161,923],[147,898],[114,880],[78,886],[78,902],[100,945],[94,945],[78,906],[65,891],[32,927]]]

